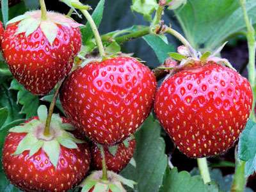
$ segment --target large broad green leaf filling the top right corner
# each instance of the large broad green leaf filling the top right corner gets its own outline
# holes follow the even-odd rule
[[[247,0],[246,9],[252,24],[256,24],[256,1]],[[239,1],[234,0],[190,0],[175,15],[196,49],[212,51],[246,28]]]

